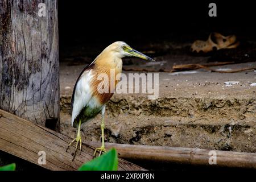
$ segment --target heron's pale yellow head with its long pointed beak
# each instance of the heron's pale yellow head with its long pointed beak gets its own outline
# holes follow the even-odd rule
[[[112,52],[115,56],[118,56],[120,58],[134,56],[148,61],[155,61],[151,57],[148,57],[143,53],[136,51],[135,49],[131,48],[128,44],[121,41],[110,44],[110,46],[107,47],[106,50]]]

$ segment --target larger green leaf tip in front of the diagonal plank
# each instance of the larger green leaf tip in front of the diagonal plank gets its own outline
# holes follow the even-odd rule
[[[117,171],[117,167],[117,151],[115,148],[112,148],[106,154],[83,164],[79,171]]]

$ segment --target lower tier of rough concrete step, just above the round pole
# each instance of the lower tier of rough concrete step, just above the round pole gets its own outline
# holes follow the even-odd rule
[[[75,137],[76,129],[70,124],[70,115],[61,113],[61,132]],[[100,141],[100,115],[86,123],[82,138]],[[254,117],[245,121],[187,117],[106,116],[107,142],[147,144],[155,146],[199,147],[215,150],[256,152],[256,122]]]

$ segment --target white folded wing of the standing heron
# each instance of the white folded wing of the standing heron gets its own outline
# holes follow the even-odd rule
[[[72,119],[71,125],[73,126],[73,122],[75,118],[81,110],[88,104],[90,99],[92,98],[92,90],[90,89],[90,81],[92,80],[92,69],[89,69],[82,73],[79,80],[75,85],[75,90],[73,93],[73,109],[72,109]]]

